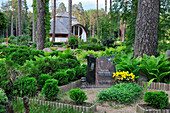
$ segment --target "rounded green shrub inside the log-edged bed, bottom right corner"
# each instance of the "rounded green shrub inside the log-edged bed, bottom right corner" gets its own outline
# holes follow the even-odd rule
[[[144,101],[158,109],[166,108],[169,104],[168,94],[165,91],[147,91],[144,95]]]

